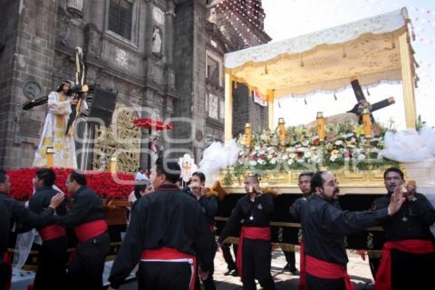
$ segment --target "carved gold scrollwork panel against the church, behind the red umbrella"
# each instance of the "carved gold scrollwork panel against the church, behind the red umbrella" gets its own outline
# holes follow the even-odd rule
[[[133,110],[125,110],[126,108],[126,105],[117,103],[111,126],[96,129],[95,139],[98,140],[101,135],[104,137],[95,144],[94,170],[107,171],[109,160],[118,149],[122,151],[116,156],[117,172],[134,173],[139,168],[141,133],[133,125],[133,120],[138,116]]]

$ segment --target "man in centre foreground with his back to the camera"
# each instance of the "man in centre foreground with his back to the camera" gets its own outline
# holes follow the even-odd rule
[[[156,192],[141,197],[113,264],[109,289],[117,289],[139,263],[138,289],[193,290],[196,261],[206,279],[213,237],[197,201],[180,192],[177,162],[159,158],[151,172]]]

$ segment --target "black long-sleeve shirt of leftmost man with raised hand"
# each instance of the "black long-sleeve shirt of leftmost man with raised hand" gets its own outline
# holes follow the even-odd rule
[[[5,193],[0,193],[0,201],[6,206],[9,215],[9,226],[12,227],[15,222],[17,222],[17,229],[20,227],[44,227],[48,224],[53,217],[53,209],[47,208],[44,212],[40,214],[35,214],[23,203],[16,199],[8,197]],[[24,232],[18,230],[17,232]]]

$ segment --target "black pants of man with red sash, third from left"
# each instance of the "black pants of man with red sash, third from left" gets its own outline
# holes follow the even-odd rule
[[[107,233],[77,244],[67,273],[70,289],[103,288],[104,262],[109,247],[110,238]]]

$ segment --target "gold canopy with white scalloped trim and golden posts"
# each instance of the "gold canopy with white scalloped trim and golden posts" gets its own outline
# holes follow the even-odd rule
[[[353,23],[225,55],[225,140],[232,138],[232,81],[245,83],[269,101],[382,81],[402,81],[406,125],[415,128],[415,67],[405,8]]]

